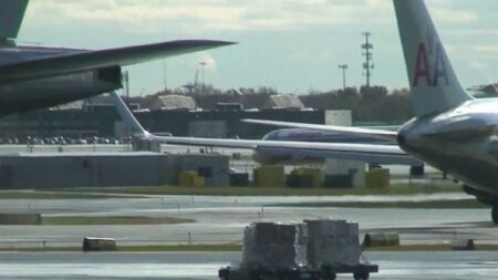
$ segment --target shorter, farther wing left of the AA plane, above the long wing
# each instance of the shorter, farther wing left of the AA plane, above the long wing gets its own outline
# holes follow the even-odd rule
[[[318,131],[328,131],[328,132],[339,132],[339,133],[347,133],[347,134],[369,135],[369,136],[384,138],[384,139],[391,139],[391,141],[395,139],[396,136],[397,136],[397,133],[393,132],[393,131],[374,129],[374,128],[362,128],[362,127],[351,127],[351,126],[335,126],[335,125],[323,125],[323,124],[292,123],[292,122],[251,120],[251,118],[242,120],[242,122],[251,123],[251,124],[263,124],[263,125],[280,126],[280,127],[310,128],[310,129],[318,129]]]

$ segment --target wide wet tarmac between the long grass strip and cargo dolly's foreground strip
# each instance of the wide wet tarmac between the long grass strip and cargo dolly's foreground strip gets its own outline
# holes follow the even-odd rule
[[[458,200],[464,194],[343,197],[217,197],[147,196],[106,199],[3,199],[0,212],[40,212],[43,216],[151,216],[195,219],[180,225],[141,226],[3,226],[0,247],[81,246],[85,236],[113,237],[118,245],[241,242],[243,228],[253,221],[299,222],[336,218],[360,222],[361,232],[397,231],[403,243],[440,243],[473,238],[498,242],[488,209],[398,209],[280,207],[309,201]],[[272,205],[272,206],[269,206]]]

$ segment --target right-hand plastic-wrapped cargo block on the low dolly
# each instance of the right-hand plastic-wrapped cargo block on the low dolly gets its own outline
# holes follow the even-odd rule
[[[308,263],[357,266],[359,225],[345,220],[304,220],[308,230]]]

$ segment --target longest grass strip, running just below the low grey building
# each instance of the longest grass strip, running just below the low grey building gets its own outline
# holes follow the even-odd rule
[[[51,189],[56,191],[56,189]],[[365,195],[414,195],[436,193],[461,193],[457,185],[436,184],[393,184],[388,188],[278,188],[278,187],[106,187],[106,188],[64,188],[64,191],[132,194],[132,195],[199,195],[199,196],[365,196]]]

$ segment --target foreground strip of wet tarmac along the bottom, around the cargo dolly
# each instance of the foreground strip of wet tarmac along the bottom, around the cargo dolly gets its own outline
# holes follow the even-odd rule
[[[367,252],[380,266],[371,279],[495,279],[496,252]],[[235,252],[185,253],[0,253],[1,279],[218,279],[218,269],[237,262]],[[352,279],[351,274],[338,279]]]

